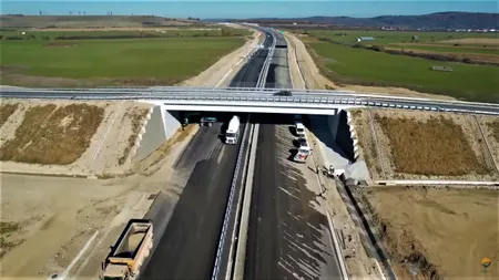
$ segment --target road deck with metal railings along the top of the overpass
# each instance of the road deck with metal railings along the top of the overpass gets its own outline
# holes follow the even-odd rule
[[[356,94],[343,91],[296,91],[292,96],[276,96],[282,89],[247,87],[147,87],[147,89],[1,89],[0,97],[64,100],[163,100],[198,102],[267,102],[294,104],[343,104],[375,107],[449,111],[464,113],[499,112],[499,104],[461,101]]]

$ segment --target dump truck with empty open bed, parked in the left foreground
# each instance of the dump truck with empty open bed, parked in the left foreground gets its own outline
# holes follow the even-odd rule
[[[153,224],[147,219],[131,219],[111,247],[102,263],[102,280],[132,280],[140,272],[153,246]]]

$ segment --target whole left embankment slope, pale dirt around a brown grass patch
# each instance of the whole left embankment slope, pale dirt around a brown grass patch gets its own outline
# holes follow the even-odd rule
[[[2,172],[64,175],[100,174],[121,166],[120,157],[112,155],[129,157],[134,141],[126,139],[136,137],[138,124],[150,107],[133,102],[3,103]],[[132,114],[135,111],[141,113]],[[94,168],[95,162],[99,168]]]

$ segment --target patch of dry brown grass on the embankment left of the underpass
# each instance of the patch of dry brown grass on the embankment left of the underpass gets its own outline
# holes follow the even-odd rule
[[[0,160],[71,164],[90,146],[103,117],[103,107],[86,104],[31,107],[27,110],[14,138],[0,148]]]

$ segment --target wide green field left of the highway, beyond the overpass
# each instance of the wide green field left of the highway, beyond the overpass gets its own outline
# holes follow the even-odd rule
[[[243,43],[244,39],[236,37],[4,40],[2,83],[23,85],[39,76],[85,80],[99,85],[104,80],[110,85],[123,81],[141,85],[145,80],[173,84],[196,75]]]

